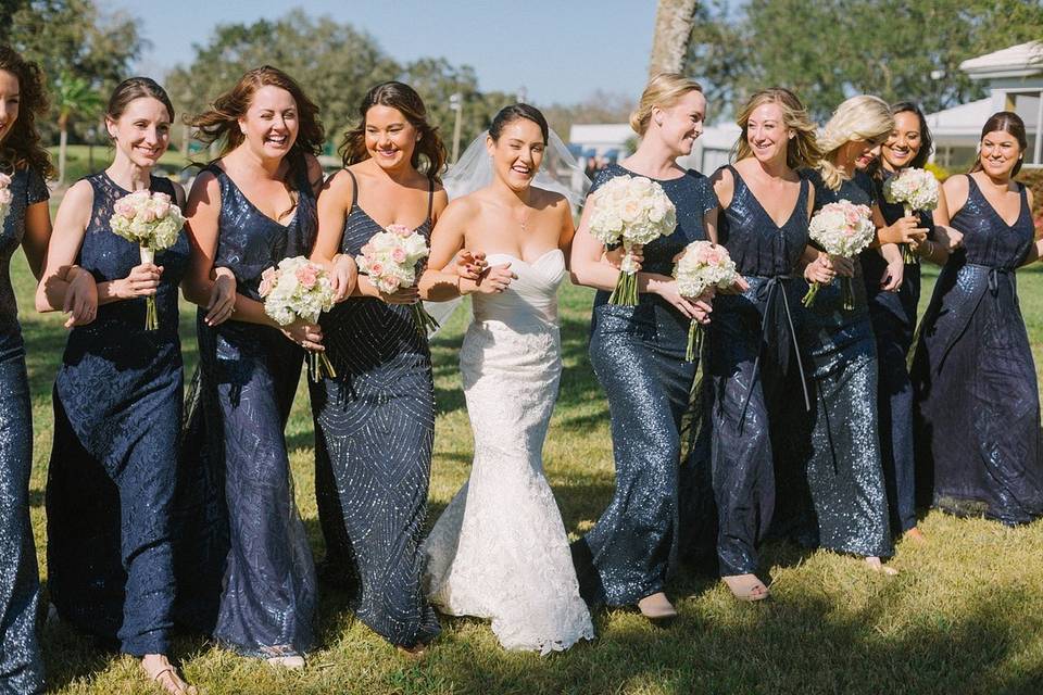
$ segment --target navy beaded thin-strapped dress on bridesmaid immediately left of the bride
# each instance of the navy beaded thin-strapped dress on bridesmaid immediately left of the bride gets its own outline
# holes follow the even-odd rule
[[[432,184],[427,219],[416,229],[427,238],[433,197]],[[359,206],[355,181],[340,252],[357,255],[380,231]],[[310,384],[327,571],[347,580],[359,619],[388,642],[426,644],[440,631],[420,585],[435,443],[427,337],[409,306],[368,296],[337,304],[322,326],[337,371]]]

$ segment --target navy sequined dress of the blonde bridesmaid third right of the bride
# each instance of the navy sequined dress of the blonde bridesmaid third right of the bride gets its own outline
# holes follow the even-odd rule
[[[807,176],[815,212],[840,200],[872,206],[872,181],[862,173],[835,191],[817,170]],[[815,401],[810,440],[796,452],[816,518],[802,540],[838,553],[888,557],[893,546],[877,425],[876,339],[862,264],[854,262],[854,309],[843,308],[839,279],[824,286],[809,308],[799,307]]]

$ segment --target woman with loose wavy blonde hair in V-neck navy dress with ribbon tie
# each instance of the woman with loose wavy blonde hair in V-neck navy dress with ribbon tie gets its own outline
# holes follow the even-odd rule
[[[717,170],[718,237],[750,283],[742,294],[714,301],[709,327],[713,393],[713,483],[718,510],[717,555],[737,598],[759,601],[756,542],[775,506],[774,458],[786,435],[782,414],[806,405],[793,315],[815,193],[796,169],[814,166],[815,124],[789,90],[754,94],[739,114],[734,165]],[[808,264],[808,279],[829,281],[832,269]],[[797,405],[800,393],[804,404]]]

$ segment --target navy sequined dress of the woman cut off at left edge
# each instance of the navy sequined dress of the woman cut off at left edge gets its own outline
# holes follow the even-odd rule
[[[43,692],[36,634],[40,578],[29,523],[33,404],[25,369],[11,257],[25,236],[25,211],[50,198],[30,168],[11,177],[11,207],[0,225],[0,692]]]

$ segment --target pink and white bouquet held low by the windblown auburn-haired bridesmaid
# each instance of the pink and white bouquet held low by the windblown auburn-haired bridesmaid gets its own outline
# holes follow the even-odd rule
[[[334,307],[334,286],[321,266],[304,256],[279,261],[278,267],[261,274],[257,294],[264,300],[264,313],[279,326],[298,318],[318,323],[318,315]],[[309,352],[307,374],[313,381],[336,377],[334,365],[322,352]]]

